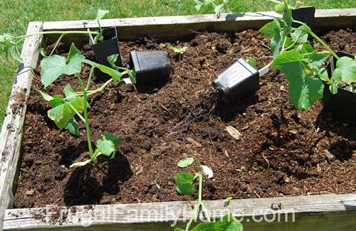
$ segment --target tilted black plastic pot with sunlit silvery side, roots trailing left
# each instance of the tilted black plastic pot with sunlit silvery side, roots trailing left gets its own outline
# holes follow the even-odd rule
[[[253,95],[258,90],[258,71],[243,58],[239,58],[214,80],[214,85],[219,90],[221,100],[231,104],[243,97]]]

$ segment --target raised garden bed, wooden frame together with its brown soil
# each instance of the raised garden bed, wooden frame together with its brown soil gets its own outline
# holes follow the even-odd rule
[[[68,168],[73,161],[85,157],[84,137],[76,139],[59,131],[46,118],[48,105],[33,90],[41,89],[38,75],[34,79],[31,72],[18,75],[1,131],[4,229],[69,228],[90,221],[95,230],[98,229],[95,225],[105,230],[111,225],[112,229],[120,227],[120,230],[143,229],[144,225],[145,230],[169,230],[168,222],[188,218],[189,214],[179,211],[190,210],[194,204],[171,202],[194,200],[191,196],[177,195],[172,181],[174,173],[179,172],[177,161],[187,156],[194,156],[196,163],[214,170],[214,181],[206,181],[204,188],[204,200],[211,200],[206,203],[208,209],[231,210],[236,216],[247,217],[272,214],[273,209],[279,213],[294,210],[297,222],[283,225],[298,224],[299,230],[310,230],[311,220],[315,227],[328,225],[335,230],[353,227],[355,223],[350,217],[355,215],[356,195],[347,193],[355,192],[356,124],[323,112],[321,102],[308,112],[298,113],[287,101],[286,81],[276,70],[261,78],[256,95],[236,102],[233,107],[218,105],[211,114],[181,123],[195,102],[209,99],[206,88],[237,58],[259,58],[259,67],[271,61],[271,53],[263,46],[267,40],[256,31],[244,31],[263,26],[271,16],[277,15],[263,12],[220,18],[176,16],[105,21],[102,26],[118,26],[121,31],[124,64],[129,62],[129,50],[167,50],[162,41],[179,40],[179,45],[187,46],[188,50],[182,58],[170,53],[173,72],[168,82],[111,86],[108,92],[90,101],[93,130],[100,131],[98,134],[112,131],[125,140],[120,155],[98,168]],[[356,53],[355,18],[355,9],[317,11],[315,29],[333,49]],[[90,21],[30,23],[28,33],[95,25]],[[24,66],[36,68],[41,39],[35,36],[24,43]],[[85,38],[78,36],[70,41],[73,39],[82,53],[92,59]],[[59,53],[68,53],[66,44]],[[96,84],[101,81],[103,76],[95,77]],[[47,90],[51,95],[60,94],[66,82],[78,87],[70,77],[63,77],[56,87]],[[30,97],[23,100],[25,95]],[[108,121],[105,117],[116,119]],[[239,141],[225,131],[228,125],[241,131]],[[18,165],[21,154],[23,159]],[[194,168],[188,169],[194,171]],[[16,169],[20,169],[19,178]],[[12,182],[17,183],[15,197]],[[329,193],[342,195],[308,195]],[[234,200],[224,208],[224,202],[218,199],[227,195],[256,199]],[[287,195],[299,196],[281,197]],[[120,203],[129,204],[114,205]],[[51,208],[53,215],[46,220],[43,215],[48,204],[60,208]],[[273,204],[279,207],[273,208]],[[12,206],[15,208],[9,209]],[[72,206],[63,213],[64,217],[60,216],[61,206]],[[141,208],[145,210],[132,217],[130,210]],[[147,211],[157,211],[159,218],[145,215],[150,213]],[[342,211],[348,212],[330,213],[328,218],[298,215]],[[112,215],[105,216],[107,212]],[[330,224],[325,219],[334,222]],[[142,222],[147,223],[137,225]],[[278,222],[271,223],[276,226],[256,224],[247,224],[245,229],[281,228]]]

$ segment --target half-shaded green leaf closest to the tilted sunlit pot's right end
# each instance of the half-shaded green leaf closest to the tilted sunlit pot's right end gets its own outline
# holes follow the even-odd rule
[[[303,55],[296,50],[288,50],[278,55],[271,66],[278,68],[289,77],[300,77],[304,75],[305,66]]]

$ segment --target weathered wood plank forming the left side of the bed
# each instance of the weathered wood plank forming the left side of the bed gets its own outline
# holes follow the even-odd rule
[[[28,24],[27,33],[36,33],[42,30],[41,22]],[[36,68],[42,36],[26,38],[23,43],[21,58],[23,70],[18,70],[11,97],[6,109],[6,117],[0,134],[0,217],[4,217],[5,210],[14,202],[13,182],[18,168],[20,157],[23,121],[26,113],[26,99],[30,93],[33,74]],[[0,227],[1,222],[0,220]]]

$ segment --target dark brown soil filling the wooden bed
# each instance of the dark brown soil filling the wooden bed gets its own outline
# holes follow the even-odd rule
[[[353,31],[333,31],[323,38],[336,50],[356,53]],[[209,113],[214,97],[204,96],[211,94],[207,89],[220,72],[241,56],[256,58],[260,68],[271,60],[261,34],[201,33],[177,43],[188,50],[181,58],[169,51],[173,72],[168,82],[110,85],[90,99],[93,143],[105,131],[124,140],[114,160],[102,159],[96,167],[68,168],[88,159],[83,123],[79,138],[58,130],[46,115],[49,105],[34,90],[43,90],[35,77],[16,208],[194,200],[196,195],[177,194],[172,176],[193,173],[200,164],[214,171],[214,178],[204,182],[206,200],[355,193],[356,123],[324,112],[320,102],[297,112],[277,70],[261,78],[256,95],[229,106],[217,104]],[[151,39],[120,46],[125,63],[129,50],[167,50]],[[82,51],[93,58],[88,46]],[[86,75],[88,68],[82,77]],[[96,76],[93,89],[103,81]],[[45,91],[62,94],[67,82],[79,90],[74,77],[63,76]],[[229,125],[241,132],[239,141],[225,130]],[[179,169],[177,162],[188,156],[194,156],[194,164]]]

